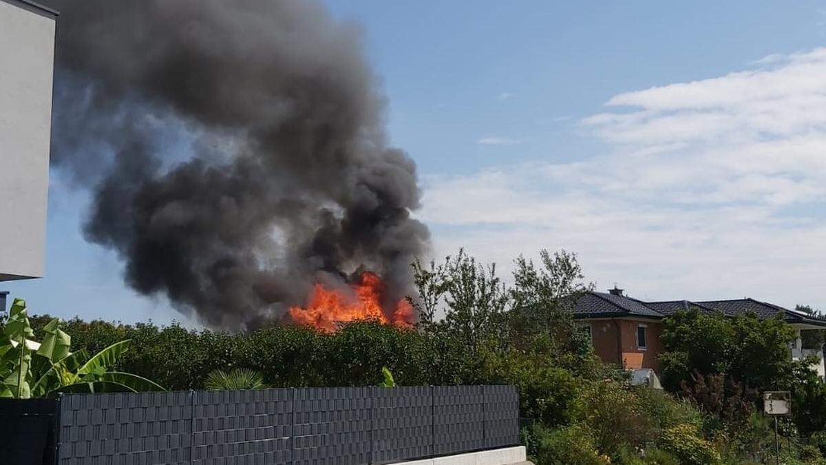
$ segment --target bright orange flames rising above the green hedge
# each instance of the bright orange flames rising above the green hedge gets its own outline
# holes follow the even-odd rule
[[[316,284],[307,306],[291,307],[290,317],[297,324],[307,324],[328,333],[338,329],[339,324],[358,319],[375,319],[382,324],[404,328],[412,326],[413,307],[407,300],[399,300],[388,319],[381,304],[382,279],[370,271],[363,271],[358,278],[358,283],[350,285],[353,295]]]

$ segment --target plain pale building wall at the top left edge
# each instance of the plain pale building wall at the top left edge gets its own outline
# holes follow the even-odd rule
[[[0,0],[0,280],[43,276],[55,15]]]

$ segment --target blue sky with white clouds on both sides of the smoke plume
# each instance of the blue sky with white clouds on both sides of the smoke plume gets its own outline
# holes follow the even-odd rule
[[[362,26],[436,256],[564,247],[643,299],[826,309],[826,3],[328,3]],[[86,202],[53,174],[46,277],[2,288],[188,321],[83,241]]]

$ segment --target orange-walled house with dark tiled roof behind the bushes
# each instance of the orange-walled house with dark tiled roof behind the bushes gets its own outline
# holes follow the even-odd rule
[[[604,362],[617,363],[630,370],[659,372],[659,354],[662,352],[660,333],[662,319],[676,312],[698,309],[701,312],[735,316],[753,313],[758,318],[771,318],[781,314],[786,323],[797,331],[797,340],[790,348],[795,359],[816,355],[820,362],[816,367],[824,376],[823,351],[821,348],[803,348],[800,332],[826,328],[826,319],[785,309],[780,305],[750,298],[733,300],[667,300],[648,302],[624,295],[623,290],[587,292],[574,305],[574,318],[591,336],[594,352]]]

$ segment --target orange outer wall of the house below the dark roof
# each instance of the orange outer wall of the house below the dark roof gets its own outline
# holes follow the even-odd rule
[[[591,338],[594,352],[603,362],[619,363],[622,353],[624,367],[629,369],[653,368],[659,371],[657,357],[662,352],[660,333],[662,324],[657,322],[629,319],[591,320]],[[648,348],[637,348],[637,325],[646,325],[646,342]],[[622,336],[618,347],[617,333]]]

